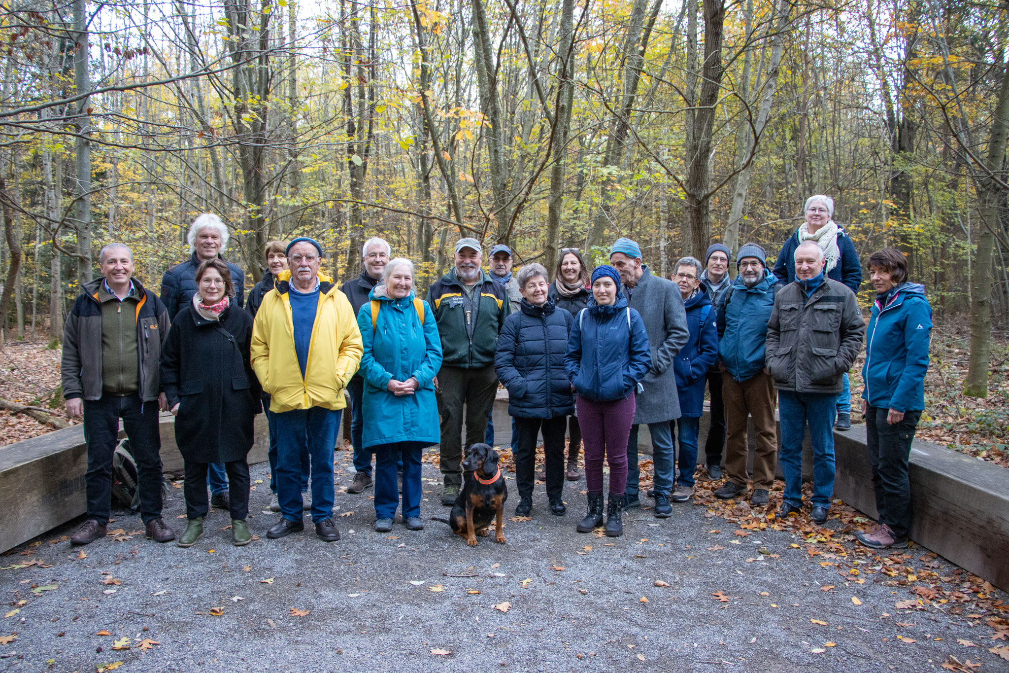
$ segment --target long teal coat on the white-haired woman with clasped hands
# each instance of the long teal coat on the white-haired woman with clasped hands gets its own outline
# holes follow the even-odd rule
[[[434,377],[441,368],[442,354],[431,307],[423,303],[422,326],[413,293],[391,299],[385,296],[383,286],[377,286],[368,297],[380,306],[374,329],[370,301],[357,313],[364,348],[357,371],[364,379],[364,448],[396,442],[437,444],[441,436]],[[389,379],[405,381],[411,376],[419,385],[414,395],[395,396],[385,387]]]

